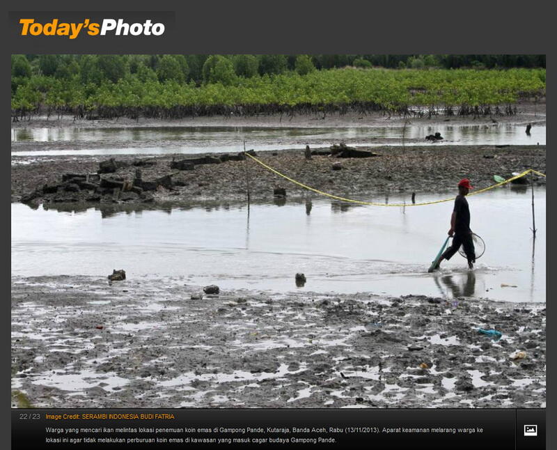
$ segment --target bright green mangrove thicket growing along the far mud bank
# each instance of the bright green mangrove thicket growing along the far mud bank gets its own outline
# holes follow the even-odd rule
[[[110,78],[100,77],[100,66],[92,65],[87,58],[81,59],[81,70],[74,75],[68,69],[65,77],[26,77],[29,74],[26,61],[15,59],[11,101],[14,120],[33,114],[73,114],[79,118],[334,111],[514,114],[519,100],[542,98],[546,87],[545,69],[315,70],[311,59],[300,57],[296,61],[297,70],[284,72],[283,59],[268,59],[265,63],[269,67],[275,64],[273,70],[277,73],[253,75],[257,70],[253,58],[210,56],[200,70],[205,82],[198,85],[193,80],[185,81],[189,73],[185,57],[179,60],[162,57],[156,70],[148,61],[135,61],[127,75],[120,78],[123,61],[115,57],[102,62],[102,72],[111,74]],[[40,63],[44,73],[54,70],[48,59]],[[236,75],[235,65],[251,77]]]

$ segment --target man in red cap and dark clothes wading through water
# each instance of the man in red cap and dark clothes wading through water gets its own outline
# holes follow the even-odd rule
[[[450,216],[450,230],[448,231],[448,235],[453,236],[453,245],[444,251],[444,254],[441,255],[437,264],[430,269],[430,272],[439,269],[439,265],[444,259],[448,261],[452,258],[461,245],[468,259],[468,267],[473,269],[473,263],[476,263],[476,251],[472,240],[472,231],[470,230],[470,210],[468,201],[466,201],[466,195],[468,195],[470,189],[473,189],[473,187],[470,185],[468,178],[460,180],[455,208]]]

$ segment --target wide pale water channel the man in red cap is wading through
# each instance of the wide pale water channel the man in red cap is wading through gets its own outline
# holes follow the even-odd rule
[[[244,205],[58,212],[13,203],[12,274],[106,277],[123,268],[132,279],[183,277],[221,289],[544,302],[545,189],[535,189],[535,248],[529,188],[503,187],[471,196],[469,204],[471,228],[487,247],[476,269],[456,254],[441,272],[427,274],[446,237],[450,202],[382,208],[287,201],[251,205],[249,216]],[[297,272],[306,274],[304,287],[295,286]]]

